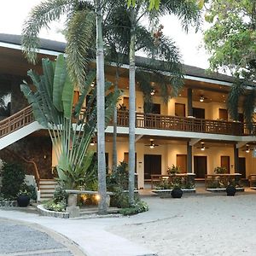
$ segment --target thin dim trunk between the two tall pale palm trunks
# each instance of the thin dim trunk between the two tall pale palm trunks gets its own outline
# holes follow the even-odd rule
[[[117,91],[119,88],[119,63],[116,67],[115,72],[115,82],[114,82],[114,90]],[[116,139],[117,139],[117,108],[113,108],[113,154],[112,154],[112,171],[116,172],[117,169],[117,145],[116,145]]]

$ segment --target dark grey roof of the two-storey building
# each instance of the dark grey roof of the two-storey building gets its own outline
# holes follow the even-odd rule
[[[0,33],[0,42],[7,43],[7,44],[16,44],[20,45],[20,35],[14,35],[14,34],[4,34]],[[65,51],[66,43],[64,42],[57,42],[49,39],[40,39],[40,49],[46,49],[46,50],[52,50],[57,52],[64,52]],[[137,56],[137,65],[143,65],[148,62],[148,59],[145,57]],[[154,61],[154,63],[161,61]],[[150,65],[150,64],[149,64]],[[152,64],[151,64],[152,65]],[[221,73],[207,73],[205,69],[200,67],[193,67],[189,65],[183,65],[184,73],[188,76],[203,78],[203,79],[214,79],[218,81],[224,81],[224,82],[233,82],[234,78],[228,75],[224,75]]]

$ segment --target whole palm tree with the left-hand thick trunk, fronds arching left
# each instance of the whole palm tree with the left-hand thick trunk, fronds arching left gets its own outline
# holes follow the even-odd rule
[[[22,46],[29,61],[36,61],[39,48],[38,33],[48,27],[52,20],[59,20],[67,15],[67,69],[73,84],[84,84],[85,67],[89,61],[89,49],[93,42],[93,20],[96,17],[96,83],[97,83],[97,141],[98,141],[98,182],[99,182],[99,213],[107,213],[107,190],[105,171],[105,102],[104,102],[104,57],[102,41],[102,0],[47,0],[32,9],[24,23]],[[94,10],[95,9],[95,10]]]

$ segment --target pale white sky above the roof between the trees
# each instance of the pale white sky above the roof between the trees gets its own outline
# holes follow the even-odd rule
[[[0,0],[0,33],[21,34],[22,25],[33,6],[42,0]],[[191,28],[189,33],[183,32],[176,17],[166,16],[160,20],[164,26],[163,32],[177,43],[183,56],[183,63],[195,67],[207,68],[207,54],[202,45],[202,32],[195,33]],[[40,32],[40,38],[64,41],[61,34],[61,22],[50,25],[50,30]]]

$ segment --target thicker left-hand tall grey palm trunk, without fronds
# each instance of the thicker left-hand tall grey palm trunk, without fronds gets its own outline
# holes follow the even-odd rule
[[[96,99],[97,99],[97,157],[99,214],[107,214],[107,185],[105,159],[105,76],[102,38],[101,0],[96,0]]]

